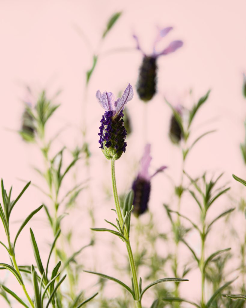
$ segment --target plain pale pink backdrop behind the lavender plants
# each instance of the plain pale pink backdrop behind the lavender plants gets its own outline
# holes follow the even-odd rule
[[[99,44],[109,16],[118,10],[123,11],[122,17],[105,41]],[[211,217],[222,210],[236,206],[235,199],[239,199],[245,193],[243,187],[232,180],[231,174],[246,177],[239,149],[240,142],[244,140],[245,119],[245,101],[241,94],[242,73],[246,70],[245,11],[246,2],[239,0],[233,2],[1,0],[0,176],[4,179],[6,188],[9,189],[13,184],[16,196],[24,186],[19,179],[32,180],[33,183],[43,185],[31,169],[33,165],[42,165],[39,152],[33,145],[23,143],[16,133],[21,125],[23,111],[21,101],[26,98],[25,87],[29,85],[36,94],[46,87],[50,95],[62,89],[62,93],[56,99],[56,102],[61,103],[61,107],[48,125],[49,136],[54,136],[61,127],[66,127],[58,138],[54,152],[64,144],[69,149],[73,149],[76,144],[81,145],[83,142],[81,128],[85,124],[88,129],[86,139],[92,152],[89,174],[83,162],[76,169],[79,180],[88,179],[89,176],[90,188],[81,195],[78,208],[72,211],[63,227],[69,229],[76,224],[73,249],[79,249],[81,245],[88,243],[91,222],[87,212],[91,206],[88,202],[91,201],[91,196],[93,196],[97,226],[105,226],[103,218],[113,217],[110,211],[113,203],[112,200],[107,201],[105,193],[111,189],[110,166],[98,149],[97,133],[103,110],[96,102],[95,93],[100,89],[112,91],[117,95],[128,83],[134,86],[135,91],[141,53],[135,49],[132,34],[136,33],[145,51],[150,52],[156,26],[173,26],[173,32],[165,40],[163,39],[160,48],[165,47],[173,39],[182,39],[184,47],[158,60],[159,93],[147,106],[147,122],[144,123],[146,106],[138,99],[136,91],[134,99],[128,104],[133,134],[128,139],[126,153],[116,163],[118,190],[124,192],[130,187],[146,141],[152,144],[152,170],[165,164],[169,167],[165,174],[172,176],[176,184],[179,183],[180,149],[173,146],[168,138],[171,111],[165,104],[164,96],[172,104],[181,103],[189,108],[210,88],[211,96],[199,111],[193,125],[192,137],[195,139],[200,133],[210,129],[217,131],[206,136],[194,147],[188,156],[185,169],[193,177],[201,176],[205,170],[208,170],[210,175],[225,172],[221,184],[229,181],[232,185],[230,198],[222,198],[217,207],[214,207],[214,212],[210,213]],[[100,56],[85,97],[85,71],[92,65],[93,53],[100,53]],[[192,99],[188,97],[190,89],[193,89]],[[67,187],[69,184],[68,181]],[[172,186],[164,174],[158,175],[153,180],[152,186],[149,207],[154,213],[158,228],[162,230],[161,232],[167,232],[170,225],[162,203],[170,202]],[[18,229],[20,221],[44,202],[43,199],[42,193],[34,187],[28,189],[19,201],[18,208],[13,212],[11,225],[13,234]],[[187,216],[198,217],[196,211],[194,212],[194,203],[189,201],[191,200],[182,205],[182,212]],[[39,213],[30,223],[38,238],[44,260],[48,253],[47,243],[52,241],[45,219],[44,213]],[[148,218],[143,216],[141,219],[145,221]],[[238,231],[245,232],[245,220],[241,214],[234,214],[231,222]],[[217,236],[211,238],[211,241],[221,249],[234,247],[234,253],[237,254],[236,241],[233,243],[228,238],[219,237],[222,236],[220,234],[220,229],[223,228],[222,222],[216,228],[214,234]],[[0,240],[5,241],[2,228],[0,232]],[[17,245],[19,264],[35,262],[29,237],[29,228],[26,227]],[[81,262],[85,264],[85,268],[92,269],[94,264],[92,255],[95,256],[97,253],[94,257],[97,271],[110,274],[113,265],[110,261],[111,249],[108,247],[112,238],[105,234],[100,234],[97,238],[96,247],[86,250],[81,255]],[[197,243],[194,235],[193,245],[197,246],[199,253]],[[121,248],[125,251],[123,246]],[[161,249],[165,251],[166,247]],[[210,249],[213,251],[212,247]],[[8,261],[5,251],[2,248],[0,251],[1,260]],[[190,255],[185,248],[184,251],[188,260]],[[6,273],[1,272],[0,277],[4,279]],[[83,280],[81,286],[88,289],[89,276],[82,274],[81,277]],[[200,289],[197,287],[198,273],[195,271],[188,278],[189,286],[184,286],[183,290],[189,299],[196,301],[200,296]],[[11,278],[9,281],[12,281]],[[93,279],[92,281],[95,282]],[[14,282],[11,283],[14,286]],[[92,291],[88,290],[88,294],[91,293]],[[22,294],[21,291],[19,294]],[[110,296],[110,293],[108,295]],[[149,305],[151,300],[149,292],[144,302]],[[2,298],[0,305],[6,306]]]

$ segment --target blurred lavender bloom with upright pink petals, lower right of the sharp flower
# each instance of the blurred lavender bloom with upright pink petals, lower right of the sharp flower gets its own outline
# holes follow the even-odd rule
[[[148,209],[149,196],[151,190],[151,179],[158,172],[163,171],[166,166],[161,166],[152,175],[149,175],[149,165],[152,160],[150,156],[150,144],[146,144],[144,149],[144,155],[140,161],[140,170],[138,172],[137,178],[133,181],[132,189],[134,191],[133,213],[138,217],[139,215],[145,213]]]

